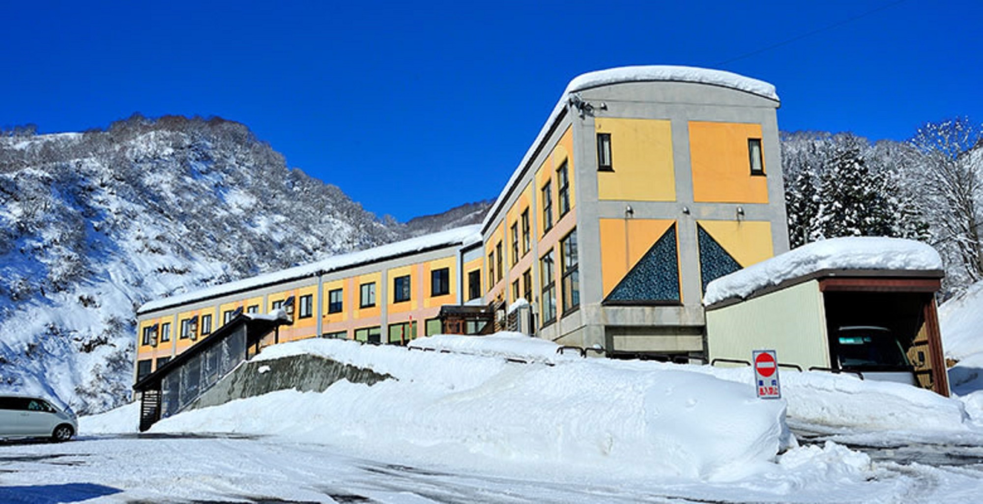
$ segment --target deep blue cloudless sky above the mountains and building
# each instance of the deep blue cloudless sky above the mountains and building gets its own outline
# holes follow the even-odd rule
[[[979,0],[3,0],[0,126],[221,116],[407,220],[497,196],[567,82],[609,67],[771,82],[785,131],[903,140],[925,121],[983,121],[981,20]]]

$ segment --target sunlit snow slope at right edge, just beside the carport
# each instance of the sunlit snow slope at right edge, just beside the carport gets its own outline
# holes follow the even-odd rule
[[[939,307],[939,329],[946,357],[983,354],[983,281]]]

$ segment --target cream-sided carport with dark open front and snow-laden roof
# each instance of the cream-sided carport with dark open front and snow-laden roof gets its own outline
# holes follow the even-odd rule
[[[787,252],[722,278],[729,286],[708,289],[711,362],[746,361],[753,350],[774,349],[780,364],[865,379],[906,376],[949,396],[935,302],[944,276],[938,254],[915,242],[864,240]],[[869,253],[849,250],[851,244]],[[825,250],[810,255],[817,249]],[[905,260],[912,251],[924,256]],[[865,267],[871,265],[877,267]]]

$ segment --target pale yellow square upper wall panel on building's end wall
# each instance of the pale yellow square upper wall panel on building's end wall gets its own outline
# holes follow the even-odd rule
[[[598,172],[599,199],[675,200],[670,121],[595,118],[594,129],[611,136],[613,171]]]

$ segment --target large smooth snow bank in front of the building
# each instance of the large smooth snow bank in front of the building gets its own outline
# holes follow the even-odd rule
[[[274,434],[476,471],[685,478],[742,476],[774,461],[787,439],[782,401],[686,370],[582,359],[514,364],[340,340],[283,344],[261,359],[291,352],[397,379],[274,392],[161,420],[152,431]]]

